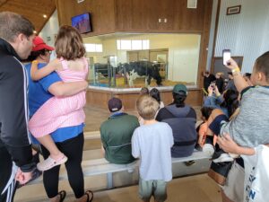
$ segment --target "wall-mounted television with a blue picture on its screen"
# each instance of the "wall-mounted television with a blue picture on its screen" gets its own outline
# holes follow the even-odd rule
[[[91,27],[91,13],[83,13],[71,18],[72,26],[80,33],[87,33],[92,31]]]

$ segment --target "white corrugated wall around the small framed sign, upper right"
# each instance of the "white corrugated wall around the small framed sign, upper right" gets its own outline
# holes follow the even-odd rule
[[[239,14],[226,15],[227,7],[241,5]],[[221,0],[215,57],[230,48],[231,56],[243,56],[242,72],[252,72],[256,57],[269,50],[269,1]]]

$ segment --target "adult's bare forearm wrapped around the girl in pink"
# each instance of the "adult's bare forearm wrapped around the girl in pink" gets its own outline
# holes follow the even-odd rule
[[[56,97],[65,97],[74,95],[78,92],[85,91],[87,88],[88,88],[87,81],[71,82],[71,83],[56,82],[49,86],[48,92],[50,92]]]

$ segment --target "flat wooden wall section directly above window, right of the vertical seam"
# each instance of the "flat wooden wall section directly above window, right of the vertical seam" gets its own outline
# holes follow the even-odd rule
[[[196,9],[189,9],[187,0],[115,0],[116,30],[202,32],[210,4],[211,0],[199,0]]]

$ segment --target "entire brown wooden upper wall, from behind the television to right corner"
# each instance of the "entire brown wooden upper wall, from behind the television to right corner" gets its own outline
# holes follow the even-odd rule
[[[90,12],[93,32],[85,36],[91,36],[114,31],[203,32],[206,9],[212,8],[212,2],[199,0],[196,9],[188,9],[187,0],[85,0],[80,4],[56,0],[56,7],[60,24],[70,24],[72,16]]]

